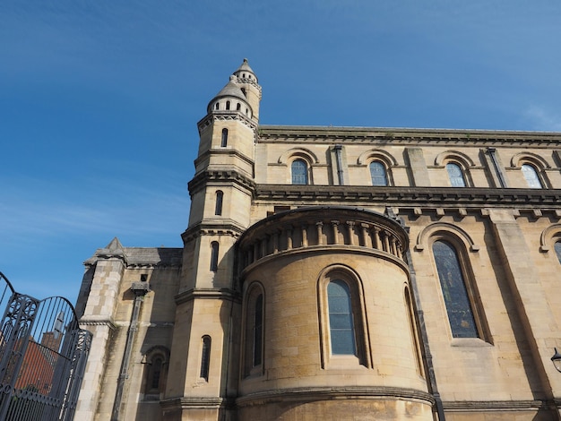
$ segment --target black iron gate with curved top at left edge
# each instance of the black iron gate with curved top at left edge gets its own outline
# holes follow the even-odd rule
[[[91,333],[61,296],[15,292],[0,272],[0,420],[73,419]]]

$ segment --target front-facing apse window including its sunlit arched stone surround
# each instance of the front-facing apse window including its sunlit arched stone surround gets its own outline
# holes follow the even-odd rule
[[[318,280],[322,365],[334,359],[372,366],[364,291],[358,275],[343,265],[326,268]]]

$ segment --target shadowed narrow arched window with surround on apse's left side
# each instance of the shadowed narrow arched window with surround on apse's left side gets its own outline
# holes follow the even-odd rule
[[[253,282],[246,291],[244,305],[244,374],[262,375],[264,361],[265,299],[261,282]]]

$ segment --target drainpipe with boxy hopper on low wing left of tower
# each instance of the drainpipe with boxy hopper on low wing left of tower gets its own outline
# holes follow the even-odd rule
[[[142,279],[142,278],[141,278]],[[121,401],[123,400],[123,390],[125,389],[125,381],[128,378],[128,365],[133,352],[134,338],[136,337],[136,326],[138,325],[138,315],[144,301],[144,296],[150,291],[150,284],[146,281],[133,282],[131,291],[134,293],[134,307],[131,315],[131,323],[126,333],[125,352],[123,353],[123,363],[121,364],[121,373],[117,381],[117,391],[115,392],[115,402],[113,403],[113,413],[111,421],[119,421],[119,411],[121,410]]]

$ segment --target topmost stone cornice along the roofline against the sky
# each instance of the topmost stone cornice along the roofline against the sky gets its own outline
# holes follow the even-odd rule
[[[561,133],[502,130],[408,129],[400,127],[326,127],[260,125],[258,142],[370,143],[417,145],[430,143],[483,146],[561,147]]]

